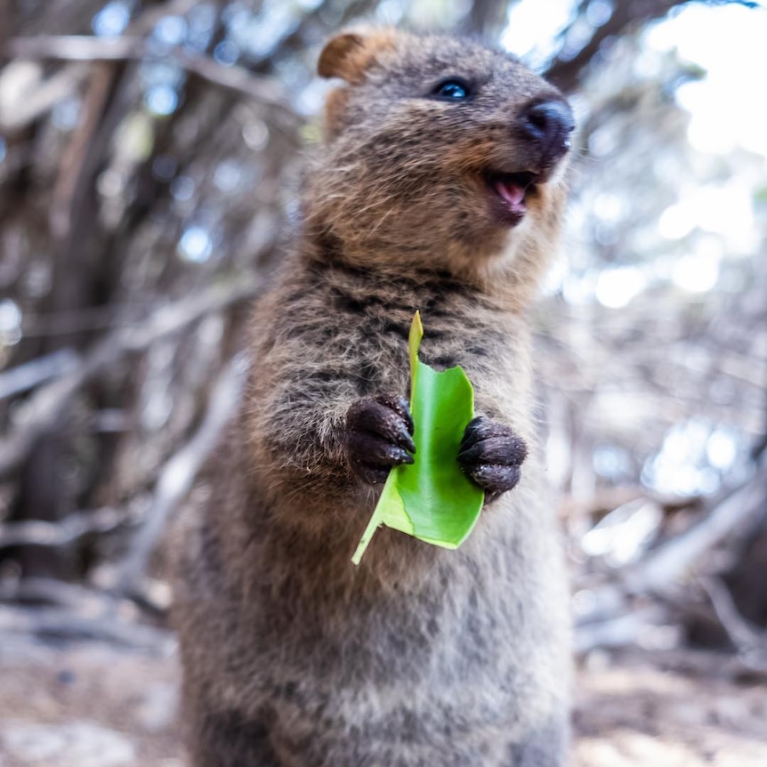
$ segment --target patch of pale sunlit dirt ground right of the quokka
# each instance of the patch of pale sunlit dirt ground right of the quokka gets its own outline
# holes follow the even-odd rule
[[[765,767],[767,684],[724,666],[634,652],[581,668],[573,767]]]

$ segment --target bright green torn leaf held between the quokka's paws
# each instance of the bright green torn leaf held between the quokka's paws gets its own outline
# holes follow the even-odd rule
[[[359,564],[381,525],[427,543],[455,549],[480,516],[484,491],[456,460],[466,425],[474,416],[474,390],[461,367],[438,373],[418,359],[424,336],[416,311],[410,327],[410,413],[415,463],[389,472],[383,492],[351,561]]]

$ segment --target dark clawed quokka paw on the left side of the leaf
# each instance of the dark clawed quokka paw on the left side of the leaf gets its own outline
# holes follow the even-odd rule
[[[412,464],[416,452],[413,419],[404,397],[357,400],[346,413],[346,458],[360,480],[375,485],[399,464]]]

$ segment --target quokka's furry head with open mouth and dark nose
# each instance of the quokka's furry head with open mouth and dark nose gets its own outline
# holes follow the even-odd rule
[[[553,85],[504,52],[391,28],[333,37],[318,69],[344,82],[305,210],[344,258],[486,276],[545,260],[574,127]]]

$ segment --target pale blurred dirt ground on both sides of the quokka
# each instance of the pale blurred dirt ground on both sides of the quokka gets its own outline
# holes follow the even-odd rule
[[[767,685],[726,658],[597,655],[577,676],[572,767],[764,767]],[[721,665],[720,665],[721,661]],[[0,648],[0,767],[185,767],[174,653]]]

